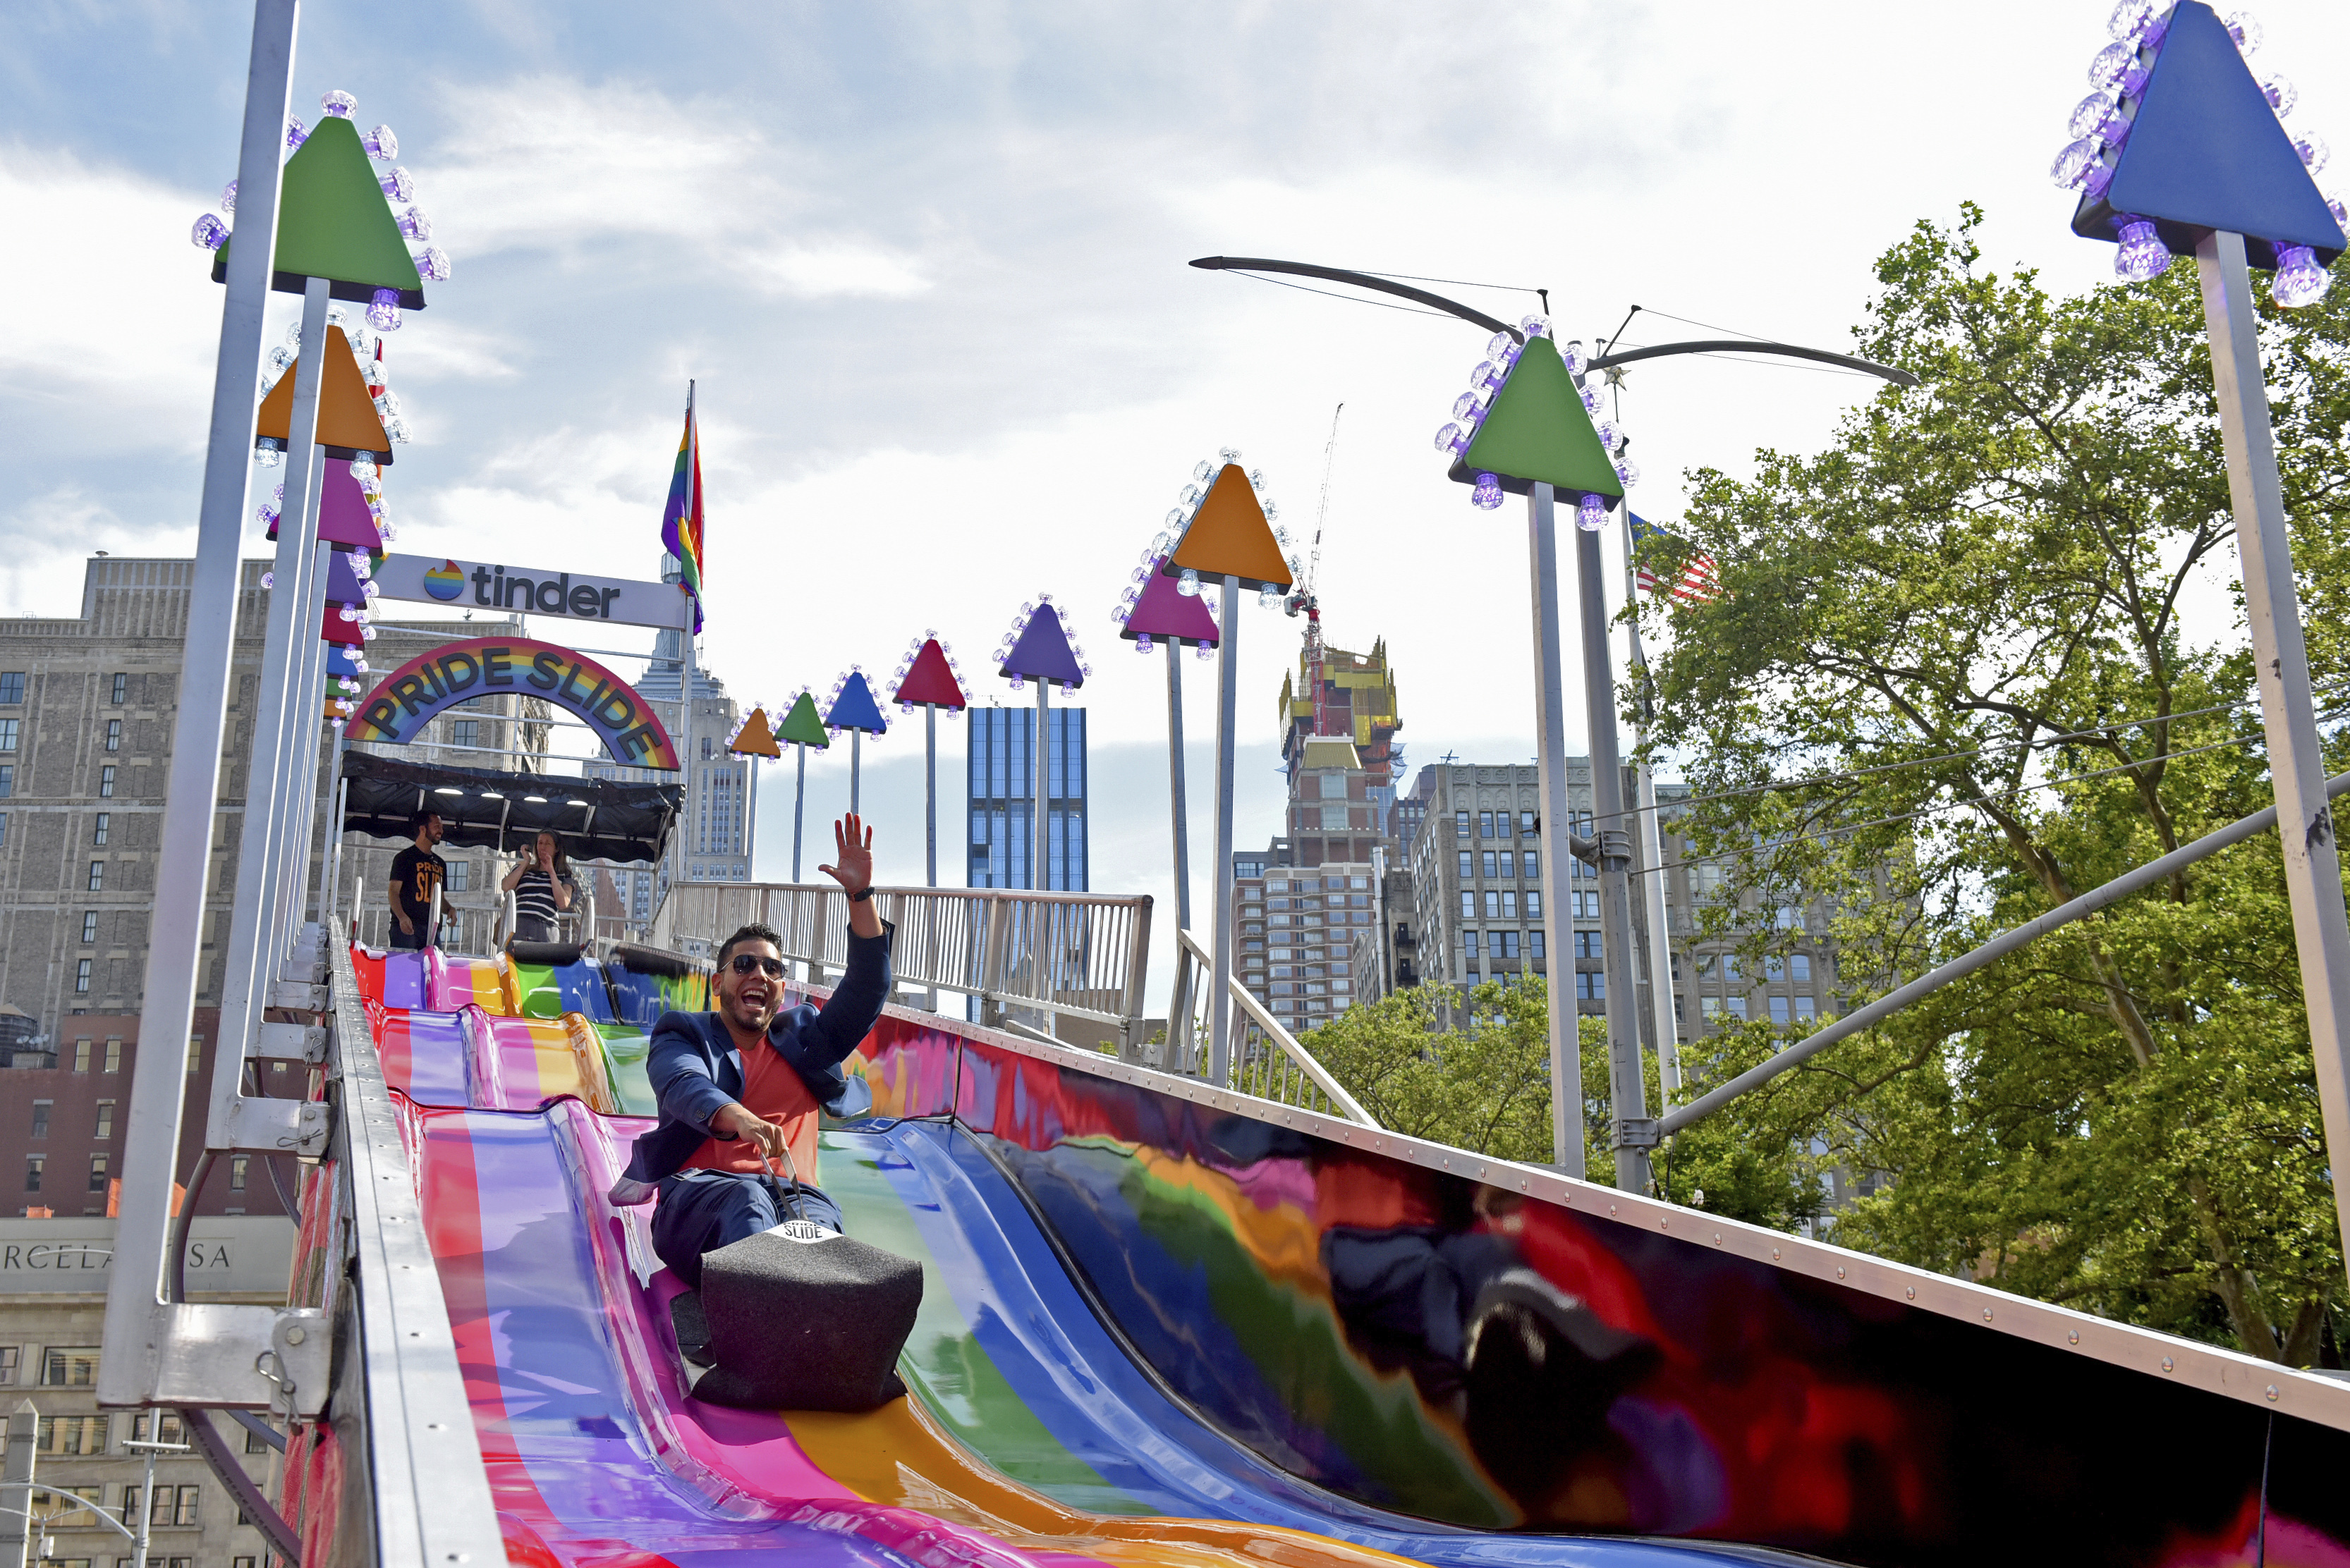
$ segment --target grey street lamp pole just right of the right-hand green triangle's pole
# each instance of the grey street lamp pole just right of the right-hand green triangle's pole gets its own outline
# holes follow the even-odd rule
[[[1631,820],[1624,811],[1624,759],[1617,755],[1614,661],[1607,656],[1607,583],[1598,534],[1574,529],[1574,581],[1582,595],[1584,722],[1591,726],[1591,818],[1600,839],[1607,1098],[1614,1112],[1607,1143],[1617,1157],[1617,1190],[1647,1192],[1647,1150],[1624,1140],[1626,1124],[1647,1121],[1647,1077],[1631,966]]]

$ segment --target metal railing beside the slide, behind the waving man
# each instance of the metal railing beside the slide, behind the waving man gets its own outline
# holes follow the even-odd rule
[[[992,1009],[1090,1018],[1121,1032],[1121,1056],[1142,1041],[1149,980],[1147,893],[1032,893],[1025,889],[874,889],[895,926],[891,969],[905,990],[978,997]],[[707,957],[745,924],[771,926],[783,957],[811,978],[848,964],[848,898],[832,884],[689,882],[653,917],[653,945]]]

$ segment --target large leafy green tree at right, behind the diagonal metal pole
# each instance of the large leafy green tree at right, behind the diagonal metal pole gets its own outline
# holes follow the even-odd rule
[[[1852,997],[2270,804],[2242,628],[2193,623],[2235,581],[2195,268],[2052,299],[1979,266],[1979,221],[1920,223],[1878,263],[1859,350],[1920,386],[1819,456],[1694,475],[1683,534],[1725,597],[1650,611],[1650,745],[1692,785],[1690,856],[1725,867],[1706,933],[1762,954],[1772,910],[1810,907]],[[2322,684],[2350,658],[2343,294],[2263,308]],[[1777,1044],[1697,1041],[1692,1093]],[[1734,1159],[1748,1201],[1800,1199],[1824,1152],[1885,1182],[1845,1244],[2261,1356],[2317,1359],[2343,1295],[2275,839],[1683,1143],[1708,1199]]]

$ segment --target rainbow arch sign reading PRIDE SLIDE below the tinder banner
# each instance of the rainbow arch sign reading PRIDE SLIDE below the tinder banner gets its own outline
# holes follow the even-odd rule
[[[350,722],[352,741],[404,745],[470,696],[538,696],[576,712],[616,762],[677,769],[677,745],[625,679],[571,649],[531,637],[475,637],[418,654],[378,684]]]

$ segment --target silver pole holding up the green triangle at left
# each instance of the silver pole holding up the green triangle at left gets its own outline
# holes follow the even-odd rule
[[[235,256],[235,252],[230,252]],[[277,980],[277,905],[284,886],[277,875],[284,853],[287,823],[294,816],[291,773],[296,677],[301,637],[315,635],[301,616],[310,602],[310,541],[317,536],[313,496],[317,482],[317,390],[327,374],[327,280],[313,277],[303,289],[301,357],[294,364],[294,414],[287,433],[287,494],[277,512],[277,559],[270,585],[270,614],[261,646],[261,677],[254,682],[254,736],[244,762],[244,816],[237,827],[237,891],[228,914],[228,971],[221,985],[221,1039],[212,1058],[212,1114],[207,1145],[230,1135],[230,1117],[244,1091],[244,1041],[268,1006]]]

